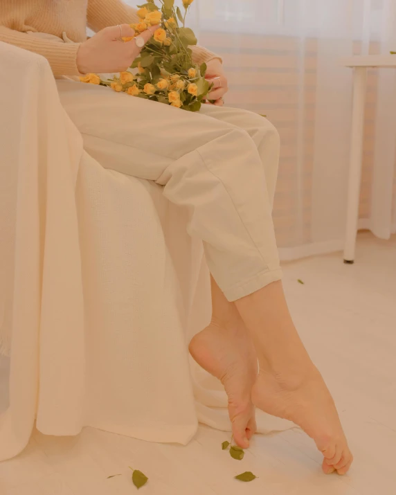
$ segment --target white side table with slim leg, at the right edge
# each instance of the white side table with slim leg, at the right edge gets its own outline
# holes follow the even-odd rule
[[[396,55],[359,55],[341,60],[341,63],[345,67],[354,69],[348,212],[344,251],[344,262],[353,264],[359,219],[367,69],[396,69]]]

